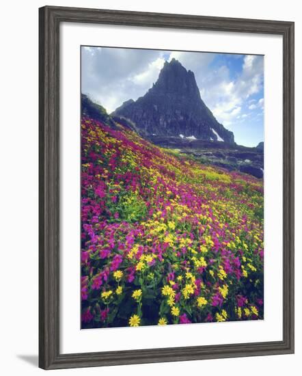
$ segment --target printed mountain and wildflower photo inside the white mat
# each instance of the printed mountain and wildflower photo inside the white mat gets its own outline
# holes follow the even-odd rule
[[[81,46],[81,328],[264,319],[264,56]]]

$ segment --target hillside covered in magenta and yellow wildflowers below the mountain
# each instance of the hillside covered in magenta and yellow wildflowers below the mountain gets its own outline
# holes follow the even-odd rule
[[[82,120],[82,327],[263,319],[263,182]]]

